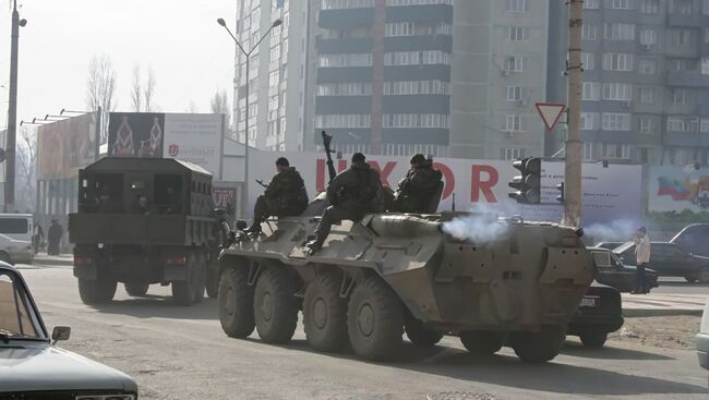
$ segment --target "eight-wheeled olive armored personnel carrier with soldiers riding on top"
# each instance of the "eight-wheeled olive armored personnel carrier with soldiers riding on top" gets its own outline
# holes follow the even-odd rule
[[[397,355],[406,331],[419,346],[444,335],[470,352],[510,346],[528,362],[558,353],[593,280],[579,233],[553,223],[469,213],[375,214],[333,227],[323,249],[303,252],[324,198],[307,215],[245,223],[219,255],[224,331],[288,342],[302,311],[316,351],[351,348],[365,360]]]

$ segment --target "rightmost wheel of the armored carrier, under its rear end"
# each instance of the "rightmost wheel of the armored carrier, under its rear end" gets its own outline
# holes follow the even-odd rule
[[[512,348],[528,363],[543,363],[554,359],[562,349],[566,334],[556,325],[546,325],[537,332],[515,332]]]

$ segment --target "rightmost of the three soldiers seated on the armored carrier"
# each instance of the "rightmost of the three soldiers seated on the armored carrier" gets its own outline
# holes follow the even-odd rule
[[[433,169],[433,161],[422,154],[411,157],[411,169],[399,181],[394,195],[394,213],[426,213],[426,208],[438,190],[443,174]]]

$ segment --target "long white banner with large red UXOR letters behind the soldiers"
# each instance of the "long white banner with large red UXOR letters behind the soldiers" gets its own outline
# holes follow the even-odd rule
[[[320,154],[302,153],[264,153],[252,151],[249,162],[249,210],[253,209],[256,196],[261,194],[255,180],[271,181],[275,173],[277,157],[287,157],[290,165],[296,167],[313,197],[325,189],[327,183],[327,167]],[[457,210],[469,210],[483,206],[501,215],[521,215],[530,220],[558,222],[562,219],[562,206],[556,204],[555,190],[564,179],[563,162],[542,163],[542,202],[551,205],[519,205],[508,197],[512,191],[507,183],[517,174],[508,160],[474,160],[458,158],[438,158],[434,167],[443,172],[445,187],[440,210],[452,209],[455,197]],[[382,183],[396,189],[408,168],[408,157],[368,157],[368,162],[380,171]],[[335,160],[335,169],[343,171],[349,166],[349,159]],[[639,166],[584,165],[582,202],[584,225],[608,223],[618,218],[640,220],[641,177]]]

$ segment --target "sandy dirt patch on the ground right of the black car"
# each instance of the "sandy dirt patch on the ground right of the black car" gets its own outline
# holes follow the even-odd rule
[[[662,349],[695,350],[700,323],[701,317],[688,315],[625,318],[623,328],[611,334],[609,339]]]

